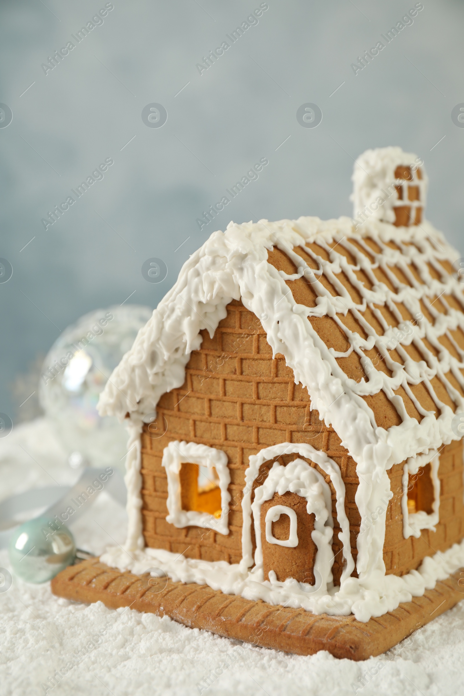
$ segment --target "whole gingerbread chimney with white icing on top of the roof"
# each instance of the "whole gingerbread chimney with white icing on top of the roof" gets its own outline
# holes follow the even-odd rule
[[[428,180],[423,160],[413,152],[366,150],[355,161],[352,180],[356,227],[369,218],[397,227],[422,222]]]

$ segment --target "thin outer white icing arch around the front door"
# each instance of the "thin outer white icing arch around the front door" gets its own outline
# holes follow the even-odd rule
[[[257,454],[252,454],[249,457],[249,466],[245,472],[245,488],[243,489],[243,500],[241,503],[243,526],[241,532],[242,559],[240,562],[240,569],[242,572],[246,572],[255,562],[253,559],[253,544],[251,539],[251,492],[253,490],[253,483],[259,476],[259,467],[264,464],[265,461],[277,459],[282,454],[299,454],[301,457],[305,457],[305,459],[310,459],[314,461],[314,464],[317,464],[323,472],[330,476],[330,481],[335,488],[335,494],[337,496],[335,507],[337,509],[337,521],[341,529],[339,532],[339,540],[342,542],[342,555],[344,557],[344,569],[340,578],[340,585],[342,585],[344,580],[348,579],[355,569],[355,562],[351,555],[350,525],[345,512],[345,484],[342,480],[342,473],[338,464],[333,461],[333,459],[330,459],[325,452],[315,450],[312,445],[306,443],[282,442],[278,445],[272,445],[264,450],[260,450]],[[258,548],[258,538],[256,541]],[[262,557],[260,560],[262,562]],[[257,568],[256,570],[258,573],[261,572],[262,574],[262,568]],[[255,569],[253,569],[252,573],[254,573],[254,571]]]

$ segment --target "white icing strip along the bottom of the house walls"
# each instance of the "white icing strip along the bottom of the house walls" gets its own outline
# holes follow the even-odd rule
[[[245,599],[262,599],[269,604],[303,608],[314,614],[347,616],[353,613],[360,622],[393,611],[401,602],[422,596],[433,590],[438,580],[445,580],[458,568],[464,567],[464,541],[447,551],[424,558],[418,570],[405,576],[383,576],[381,572],[369,581],[358,578],[345,580],[343,591],[334,587],[328,593],[311,592],[311,585],[297,583],[291,578],[285,583],[262,581],[262,571],[242,573],[238,564],[225,561],[208,562],[185,558],[159,548],[145,548],[129,554],[120,546],[113,546],[100,558],[102,563],[143,574],[155,567],[175,582],[209,585],[224,594],[238,594]],[[259,577],[261,575],[261,578]],[[464,593],[463,593],[464,599]]]

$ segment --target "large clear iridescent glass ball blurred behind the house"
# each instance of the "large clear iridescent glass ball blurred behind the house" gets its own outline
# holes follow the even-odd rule
[[[72,468],[124,468],[127,432],[100,418],[99,395],[122,356],[152,316],[149,307],[114,306],[84,315],[51,347],[40,376],[40,404],[54,423]]]

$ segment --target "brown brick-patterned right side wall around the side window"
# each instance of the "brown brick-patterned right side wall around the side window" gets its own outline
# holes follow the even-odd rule
[[[387,574],[405,575],[417,569],[426,556],[461,541],[464,537],[463,503],[463,441],[445,445],[440,452],[440,521],[436,532],[422,530],[419,539],[403,537],[403,464],[392,466],[388,472],[393,498],[387,508],[387,528],[383,546],[383,560]]]

